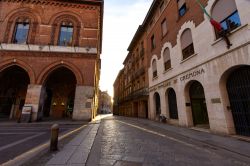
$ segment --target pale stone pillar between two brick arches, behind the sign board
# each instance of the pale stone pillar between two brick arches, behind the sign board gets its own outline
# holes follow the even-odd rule
[[[32,107],[32,118],[31,121],[34,122],[39,118],[39,103],[42,92],[42,85],[29,84],[26,98],[25,106]]]

